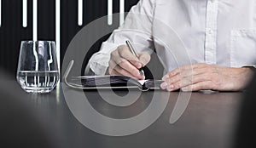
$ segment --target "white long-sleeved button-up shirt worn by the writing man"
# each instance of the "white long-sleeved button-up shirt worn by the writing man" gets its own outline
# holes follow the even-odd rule
[[[110,53],[127,39],[137,52],[155,49],[165,72],[195,63],[255,67],[256,0],[141,0],[88,68],[104,75]]]

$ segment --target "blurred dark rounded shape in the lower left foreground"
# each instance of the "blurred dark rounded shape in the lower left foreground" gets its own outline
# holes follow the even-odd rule
[[[0,73],[0,147],[60,148],[59,136],[28,102],[32,95],[9,79]]]

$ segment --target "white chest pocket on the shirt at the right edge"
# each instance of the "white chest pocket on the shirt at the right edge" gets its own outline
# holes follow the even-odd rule
[[[256,30],[233,30],[230,42],[230,65],[242,67],[256,63]]]

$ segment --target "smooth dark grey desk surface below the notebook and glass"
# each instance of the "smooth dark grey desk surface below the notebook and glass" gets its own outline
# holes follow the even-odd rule
[[[160,94],[169,94],[160,91]],[[125,92],[119,92],[125,94]],[[134,104],[119,108],[103,101],[96,92],[86,92],[90,104],[108,117],[132,117],[145,110],[154,91],[145,92]],[[227,148],[231,144],[236,116],[242,93],[192,93],[189,105],[182,117],[169,123],[179,92],[170,93],[165,111],[156,122],[137,134],[106,136],[85,128],[69,110],[62,87],[50,94],[27,94],[27,100],[44,112],[44,122],[60,136],[67,147],[166,147],[166,148]]]

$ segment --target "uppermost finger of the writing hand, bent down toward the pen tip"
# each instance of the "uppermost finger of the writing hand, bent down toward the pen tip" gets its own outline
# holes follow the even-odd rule
[[[143,66],[142,63],[138,60],[137,56],[132,54],[130,48],[127,46],[119,46],[118,53],[122,59],[128,60],[132,65],[136,66],[137,69]]]

